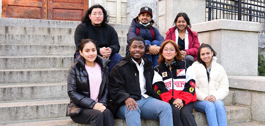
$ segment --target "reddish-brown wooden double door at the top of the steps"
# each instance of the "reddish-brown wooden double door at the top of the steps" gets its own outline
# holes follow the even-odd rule
[[[88,0],[2,0],[2,17],[80,21]]]

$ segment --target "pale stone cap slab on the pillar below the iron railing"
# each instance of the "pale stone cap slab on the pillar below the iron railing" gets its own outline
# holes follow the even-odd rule
[[[219,29],[260,32],[260,23],[230,19],[217,19],[213,21],[192,24],[192,30],[195,32],[206,32]]]

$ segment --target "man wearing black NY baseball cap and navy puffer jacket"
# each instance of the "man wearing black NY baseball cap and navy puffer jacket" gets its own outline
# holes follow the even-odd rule
[[[152,62],[153,67],[157,65],[157,58],[160,45],[165,41],[164,37],[159,33],[158,29],[153,27],[154,20],[152,9],[142,7],[140,13],[131,22],[131,26],[127,33],[126,55],[129,52],[129,45],[133,37],[139,36],[145,40],[145,56]]]

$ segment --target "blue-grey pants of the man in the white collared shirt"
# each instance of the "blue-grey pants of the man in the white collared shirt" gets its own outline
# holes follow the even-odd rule
[[[141,119],[159,119],[160,126],[172,126],[172,108],[169,103],[155,99],[151,96],[136,101],[138,109],[127,109],[122,105],[117,112],[117,117],[126,120],[127,126],[141,126]]]

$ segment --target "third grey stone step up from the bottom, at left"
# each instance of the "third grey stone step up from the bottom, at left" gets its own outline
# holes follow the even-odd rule
[[[68,97],[67,83],[0,85],[0,103],[12,100],[65,97]]]

